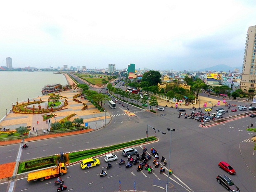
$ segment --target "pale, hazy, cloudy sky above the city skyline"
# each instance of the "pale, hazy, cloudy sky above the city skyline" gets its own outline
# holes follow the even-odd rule
[[[242,67],[255,0],[8,0],[0,66],[197,70]]]

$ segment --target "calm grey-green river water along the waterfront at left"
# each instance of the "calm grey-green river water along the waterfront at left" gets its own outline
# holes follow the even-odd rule
[[[6,109],[12,109],[12,103],[28,98],[32,101],[42,95],[42,87],[54,83],[68,84],[64,75],[53,72],[0,71],[0,119],[5,116]]]

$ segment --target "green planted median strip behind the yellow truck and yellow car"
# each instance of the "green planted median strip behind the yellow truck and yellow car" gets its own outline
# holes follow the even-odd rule
[[[157,140],[157,138],[156,137],[148,137],[148,141],[154,141],[154,140]],[[100,147],[100,148],[96,148],[96,149],[86,149],[86,150],[79,151],[79,152],[71,152],[71,153],[64,154],[64,160],[66,162],[66,159],[68,158],[69,163],[73,163],[76,161],[80,161],[82,159],[90,158],[92,156],[104,154],[104,153],[113,151],[115,149],[122,149],[124,147],[130,147],[130,146],[138,145],[138,144],[145,143],[145,142],[147,142],[147,138],[130,141],[130,142],[125,142],[125,143],[112,145],[112,146],[108,146],[108,147]],[[68,156],[68,157],[66,157],[66,156]],[[52,162],[52,161],[49,162],[49,159],[52,159],[52,158],[55,159],[55,162]],[[29,161],[20,162],[19,168],[18,168],[18,174],[24,173],[27,171],[37,170],[40,168],[57,165],[57,163],[56,163],[57,159],[59,159],[59,155],[47,156],[47,157],[42,157],[39,159],[32,159]],[[26,168],[25,168],[25,165],[29,165],[29,167],[26,166]]]

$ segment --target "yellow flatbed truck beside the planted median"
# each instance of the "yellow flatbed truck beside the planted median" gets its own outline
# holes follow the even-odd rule
[[[39,169],[38,171],[34,171],[28,173],[28,181],[43,181],[45,179],[50,179],[58,176],[64,175],[67,172],[67,168],[64,163],[59,163],[57,166],[47,167],[43,169]]]

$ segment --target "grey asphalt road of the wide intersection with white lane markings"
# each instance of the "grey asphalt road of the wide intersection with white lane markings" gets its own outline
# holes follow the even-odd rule
[[[129,106],[130,111],[136,113],[135,116],[127,116],[126,114],[121,115],[124,112],[119,105],[117,104],[116,109],[109,109],[112,121],[105,128],[83,135],[29,142],[30,147],[22,150],[21,160],[58,154],[61,151],[71,152],[139,139],[146,136],[147,125],[149,124],[161,132],[166,132],[166,135],[158,131],[155,132],[149,127],[149,136],[156,135],[159,137],[159,142],[149,144],[147,148],[154,147],[160,156],[164,155],[167,160],[170,133],[167,132],[166,128],[175,128],[175,132],[172,132],[171,141],[171,168],[174,175],[171,175],[169,184],[173,191],[185,192],[190,191],[189,189],[194,192],[226,191],[216,181],[218,174],[228,175],[228,173],[218,168],[220,161],[227,161],[235,168],[236,175],[230,175],[229,177],[241,191],[255,191],[256,156],[253,151],[254,142],[249,140],[252,132],[248,132],[246,128],[251,123],[255,124],[256,118],[245,117],[217,126],[201,128],[199,122],[195,120],[184,119],[183,116],[178,119],[178,111],[173,108],[158,111],[158,114],[155,115]],[[188,109],[186,112],[190,113],[190,111]],[[226,113],[225,117],[232,116],[235,113]],[[1,160],[8,161],[6,160],[8,159],[7,156],[15,159],[15,152],[17,153],[19,150],[19,145],[5,146],[0,149]],[[137,149],[141,152],[141,148],[137,147]],[[116,154],[119,159],[122,158],[121,152]],[[118,162],[112,162],[114,166],[107,171],[108,175],[100,178],[99,173],[106,166],[102,157],[100,161],[100,166],[88,170],[82,170],[80,164],[69,167],[68,173],[64,175],[68,190],[73,189],[73,191],[78,192],[119,191],[120,180],[121,190],[133,190],[133,182],[135,181],[136,190],[165,191],[167,177],[164,174],[159,174],[159,168],[156,169],[154,174],[148,174],[145,170],[137,172],[135,166],[126,169],[124,165],[119,166],[116,164]],[[44,191],[56,190],[56,186],[53,184],[54,180],[53,178],[43,182],[27,183],[26,178],[20,179],[17,180],[14,191],[41,192],[42,189]],[[5,189],[6,184],[0,186]]]

